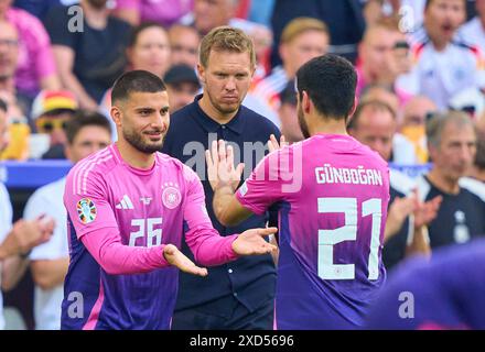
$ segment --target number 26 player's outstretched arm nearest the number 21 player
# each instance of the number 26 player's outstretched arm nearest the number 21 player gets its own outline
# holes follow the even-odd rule
[[[265,241],[265,237],[277,231],[276,228],[251,229],[241,234],[220,237],[207,215],[201,180],[188,167],[184,172],[188,186],[184,207],[185,240],[198,263],[220,265],[239,255],[258,255],[276,250]]]

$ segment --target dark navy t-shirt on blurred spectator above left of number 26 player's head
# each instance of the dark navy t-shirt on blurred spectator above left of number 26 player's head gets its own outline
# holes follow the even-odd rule
[[[75,14],[67,7],[51,9],[44,25],[53,45],[64,45],[75,52],[74,75],[87,94],[99,102],[126,67],[125,48],[130,25],[109,16],[104,30],[96,30],[83,21],[83,31],[77,28]]]

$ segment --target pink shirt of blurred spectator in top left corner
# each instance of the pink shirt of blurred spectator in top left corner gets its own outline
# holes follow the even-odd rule
[[[12,0],[0,1],[0,21],[11,23],[18,32],[17,89],[33,98],[41,89],[61,88],[51,42],[42,22],[11,4]]]

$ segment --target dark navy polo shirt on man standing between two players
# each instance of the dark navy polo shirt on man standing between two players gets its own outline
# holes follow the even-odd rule
[[[163,144],[162,152],[182,161],[192,167],[202,179],[205,191],[207,211],[214,228],[220,235],[244,232],[251,228],[265,227],[267,216],[252,216],[237,227],[222,226],[213,211],[213,196],[206,175],[204,151],[209,145],[209,139],[223,139],[234,142],[245,151],[250,146],[248,142],[267,143],[271,133],[280,136],[277,127],[268,119],[240,107],[236,117],[227,124],[219,124],[211,119],[195,101],[176,111],[171,117],[170,129]],[[248,150],[247,150],[248,151]],[[249,173],[259,162],[257,153],[242,152],[246,173]],[[195,157],[198,155],[198,157]],[[236,155],[236,154],[235,154]],[[259,156],[259,158],[261,158]],[[185,255],[194,260],[187,244],[182,240],[182,250]],[[208,276],[197,277],[180,273],[179,297],[175,307],[177,310],[195,308],[213,316],[229,319],[233,316],[235,304],[242,304],[249,311],[255,311],[268,305],[274,298],[276,270],[271,255],[246,256],[235,262],[208,268]]]

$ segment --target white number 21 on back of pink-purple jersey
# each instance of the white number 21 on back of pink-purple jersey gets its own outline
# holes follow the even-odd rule
[[[362,216],[373,216],[368,279],[379,277],[379,235],[382,221],[381,200],[373,198],[362,205]],[[319,213],[343,212],[345,226],[335,230],[319,230],[319,276],[323,279],[354,279],[355,264],[334,264],[334,245],[357,240],[357,199],[319,198]]]

